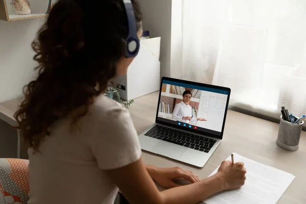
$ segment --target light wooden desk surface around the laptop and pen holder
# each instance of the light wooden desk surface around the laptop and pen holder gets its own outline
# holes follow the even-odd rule
[[[138,134],[154,123],[157,100],[156,92],[135,99],[135,103],[129,107]],[[2,114],[0,119],[14,123],[13,113],[19,103],[20,98],[0,103],[0,114]],[[200,179],[205,179],[232,152],[236,152],[295,175],[295,180],[278,203],[304,204],[306,202],[306,132],[302,132],[299,150],[293,152],[277,146],[277,133],[278,124],[276,123],[228,111],[223,140],[203,168],[193,167],[150,152],[143,152],[142,158],[146,164],[159,167],[180,166],[193,171],[199,175]]]

